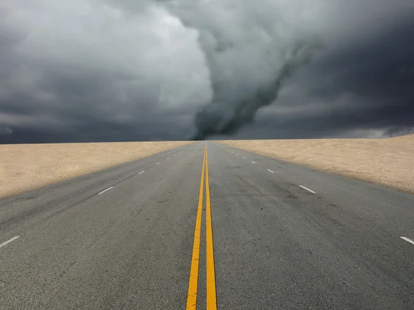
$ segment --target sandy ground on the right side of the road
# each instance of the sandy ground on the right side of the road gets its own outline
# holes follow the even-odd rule
[[[385,139],[220,142],[414,194],[414,134]]]

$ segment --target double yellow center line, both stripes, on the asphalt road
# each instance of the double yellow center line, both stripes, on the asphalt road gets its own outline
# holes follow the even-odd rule
[[[188,282],[187,310],[195,310],[197,307],[197,285],[199,273],[201,213],[203,210],[204,176],[206,176],[206,309],[217,309],[214,251],[213,251],[213,227],[211,226],[210,185],[208,183],[208,157],[207,144],[204,147],[203,167],[201,169],[201,181],[197,218],[195,220],[195,232],[193,243],[193,256],[191,257],[190,280]]]

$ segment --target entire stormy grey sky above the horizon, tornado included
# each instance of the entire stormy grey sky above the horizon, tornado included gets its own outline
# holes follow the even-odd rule
[[[0,3],[0,144],[414,133],[414,1]]]

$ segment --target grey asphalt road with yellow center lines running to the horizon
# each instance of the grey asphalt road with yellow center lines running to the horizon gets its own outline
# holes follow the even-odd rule
[[[197,142],[0,200],[0,309],[414,309],[412,240],[414,195]]]

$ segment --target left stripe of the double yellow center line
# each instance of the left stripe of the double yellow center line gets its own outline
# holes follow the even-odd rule
[[[203,209],[204,189],[204,165],[206,163],[206,149],[204,149],[203,167],[201,169],[201,181],[199,192],[199,204],[197,207],[197,218],[195,220],[193,256],[191,257],[190,280],[188,281],[187,310],[195,310],[197,307],[197,285],[200,256],[200,235],[201,235],[201,211]]]

